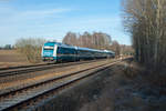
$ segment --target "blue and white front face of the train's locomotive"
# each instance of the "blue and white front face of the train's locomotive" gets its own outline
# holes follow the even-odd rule
[[[42,60],[43,61],[55,61],[56,62],[56,49],[55,42],[46,42],[42,48]]]

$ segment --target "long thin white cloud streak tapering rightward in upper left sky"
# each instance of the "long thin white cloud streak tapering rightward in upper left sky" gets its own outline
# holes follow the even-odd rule
[[[41,9],[41,10],[17,10],[12,7],[0,8],[0,23],[2,24],[20,24],[29,22],[29,20],[42,20],[44,18],[61,18],[64,13],[72,11],[68,8]]]

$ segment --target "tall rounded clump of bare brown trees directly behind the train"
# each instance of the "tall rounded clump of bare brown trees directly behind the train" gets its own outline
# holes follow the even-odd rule
[[[63,39],[63,43],[93,49],[107,49],[111,42],[111,36],[103,32],[92,34],[86,31],[83,34],[68,32]]]

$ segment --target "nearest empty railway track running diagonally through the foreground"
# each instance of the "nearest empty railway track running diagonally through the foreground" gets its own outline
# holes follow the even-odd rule
[[[86,68],[65,75],[54,77],[40,83],[0,94],[0,111],[9,111],[11,109],[18,110],[20,107],[23,109],[27,105],[33,105],[35,102],[39,102],[39,100],[44,99],[48,93],[56,92],[59,89],[63,89],[66,85],[100,72],[117,62],[121,62],[121,60],[93,68]]]

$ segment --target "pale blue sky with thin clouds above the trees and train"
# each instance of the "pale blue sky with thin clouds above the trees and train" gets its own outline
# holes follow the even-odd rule
[[[66,32],[105,32],[131,44],[121,0],[0,0],[0,46],[20,38],[62,41]]]

